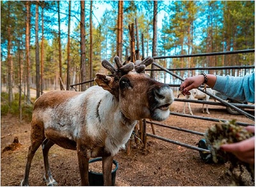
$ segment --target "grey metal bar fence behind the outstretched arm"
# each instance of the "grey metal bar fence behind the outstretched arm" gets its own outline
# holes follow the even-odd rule
[[[236,51],[230,51],[230,52],[213,52],[213,53],[205,53],[205,54],[191,54],[191,55],[179,55],[179,56],[162,56],[162,57],[153,57],[154,59],[167,59],[167,58],[182,58],[182,57],[201,57],[201,56],[220,56],[220,55],[227,55],[227,54],[241,54],[241,53],[250,53],[250,52],[255,52],[255,49],[248,49],[248,50],[236,50]],[[224,67],[206,67],[206,68],[175,68],[175,69],[166,69],[163,66],[160,66],[159,64],[153,63],[155,66],[157,66],[157,68],[159,68],[158,70],[154,70],[154,71],[165,71],[166,73],[170,73],[170,75],[172,75],[173,77],[176,77],[177,79],[184,81],[184,79],[182,77],[180,77],[179,75],[176,75],[175,73],[173,73],[172,71],[177,71],[177,70],[227,70],[228,68],[230,69],[253,69],[255,68],[255,66],[224,66]],[[152,71],[152,70],[147,70],[147,71]],[[169,86],[172,87],[179,87],[179,84],[170,84]],[[203,91],[202,87],[198,87],[198,89],[200,91]],[[225,100],[222,100],[221,98],[218,98],[217,96],[209,93],[206,91],[206,94],[208,94],[209,96],[211,96],[212,98],[214,98],[215,100],[220,101],[220,103],[217,102],[211,102],[211,101],[195,101],[195,100],[182,100],[182,99],[177,99],[175,98],[175,101],[186,101],[186,102],[194,102],[194,103],[205,103],[208,105],[221,105],[221,106],[227,106],[230,108],[233,108],[234,110],[236,110],[237,112],[239,112],[240,114],[243,114],[244,116],[248,117],[249,119],[251,119],[253,122],[255,121],[255,116],[253,116],[252,114],[249,114],[248,112],[245,112],[244,110],[241,110],[241,108],[255,108],[254,105],[244,105],[244,104],[237,104],[237,103],[228,103]],[[215,122],[220,122],[220,121],[226,121],[225,119],[215,119],[215,118],[211,118],[211,117],[202,117],[202,116],[191,116],[188,114],[181,114],[179,112],[170,112],[171,115],[174,116],[180,116],[180,117],[189,117],[189,118],[193,118],[193,119],[202,119],[202,120],[207,120],[207,121],[215,121]],[[164,140],[165,142],[170,142],[172,144],[177,144],[179,146],[184,146],[184,147],[188,147],[189,149],[194,149],[196,151],[204,151],[205,153],[210,153],[209,150],[207,149],[202,149],[200,147],[195,147],[195,146],[191,146],[189,144],[184,144],[182,142],[177,142],[175,140],[170,140],[169,138],[164,138],[158,135],[153,135],[150,133],[147,133],[147,123],[149,124],[155,124],[157,126],[161,126],[164,128],[171,128],[173,130],[178,130],[178,131],[183,131],[186,133],[193,133],[196,135],[200,135],[200,136],[204,136],[204,133],[198,132],[198,131],[191,131],[191,130],[187,130],[184,128],[177,128],[177,127],[173,127],[170,125],[166,125],[166,124],[161,124],[161,123],[155,123],[152,121],[147,121],[147,120],[143,120],[143,142],[144,142],[144,146],[145,148],[147,147],[147,136],[148,137],[153,137],[153,138],[157,138],[159,140]],[[241,126],[248,126],[248,125],[254,125],[254,123],[252,124],[248,124],[248,123],[241,123],[241,122],[237,122],[238,125]]]

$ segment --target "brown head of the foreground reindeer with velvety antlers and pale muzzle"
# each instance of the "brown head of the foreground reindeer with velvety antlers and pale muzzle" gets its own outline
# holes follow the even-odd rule
[[[111,75],[97,73],[94,79],[98,86],[109,91],[120,103],[120,110],[125,117],[132,120],[148,118],[163,121],[169,114],[169,105],[173,102],[172,89],[144,73],[145,67],[154,59],[121,64],[115,57],[115,68],[109,61],[103,60],[102,66],[111,71]]]

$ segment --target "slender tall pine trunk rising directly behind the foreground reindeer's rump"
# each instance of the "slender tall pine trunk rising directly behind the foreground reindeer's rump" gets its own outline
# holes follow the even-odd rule
[[[35,21],[35,42],[36,42],[36,98],[40,96],[40,59],[39,59],[39,43],[38,43],[38,3],[36,1],[36,21]]]

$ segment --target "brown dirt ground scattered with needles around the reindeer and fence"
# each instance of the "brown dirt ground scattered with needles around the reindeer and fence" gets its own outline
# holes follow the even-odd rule
[[[182,113],[182,103],[174,102],[171,110]],[[213,117],[218,119],[237,119],[239,122],[254,122],[244,116],[233,116],[226,112],[225,107],[209,106],[211,114],[202,113],[202,105],[191,103],[196,116]],[[188,113],[188,108],[187,108]],[[254,114],[254,113],[252,113]],[[212,121],[191,119],[188,117],[170,116],[163,124],[205,132]],[[20,146],[14,151],[1,153],[1,186],[19,186],[24,175],[26,155],[29,147],[29,123],[19,123],[18,117],[1,116],[1,152],[4,147],[19,138]],[[192,146],[198,146],[203,138],[177,130],[155,126],[156,135],[170,138]],[[148,124],[147,132],[152,133]],[[163,140],[148,137],[147,150],[142,144],[132,142],[131,153],[120,151],[115,160],[119,167],[116,172],[116,186],[229,186],[230,174],[227,172],[228,163],[204,163],[198,151],[177,146]],[[58,186],[80,186],[79,169],[76,151],[70,151],[53,146],[49,152],[52,176]],[[31,165],[29,175],[30,186],[45,186],[44,161],[42,149],[38,149]],[[248,186],[254,186],[248,174]]]

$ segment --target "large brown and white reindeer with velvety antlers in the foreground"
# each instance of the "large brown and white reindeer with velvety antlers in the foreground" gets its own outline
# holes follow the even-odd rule
[[[97,86],[84,92],[51,91],[42,94],[33,108],[31,145],[24,179],[28,186],[31,161],[42,144],[47,186],[57,184],[49,168],[49,149],[57,144],[77,151],[82,186],[88,186],[88,161],[102,156],[104,185],[111,185],[113,156],[131,137],[136,121],[148,118],[163,121],[170,115],[174,97],[167,84],[144,73],[152,57],[122,65],[115,57],[115,68],[103,60],[111,75],[96,73]]]

